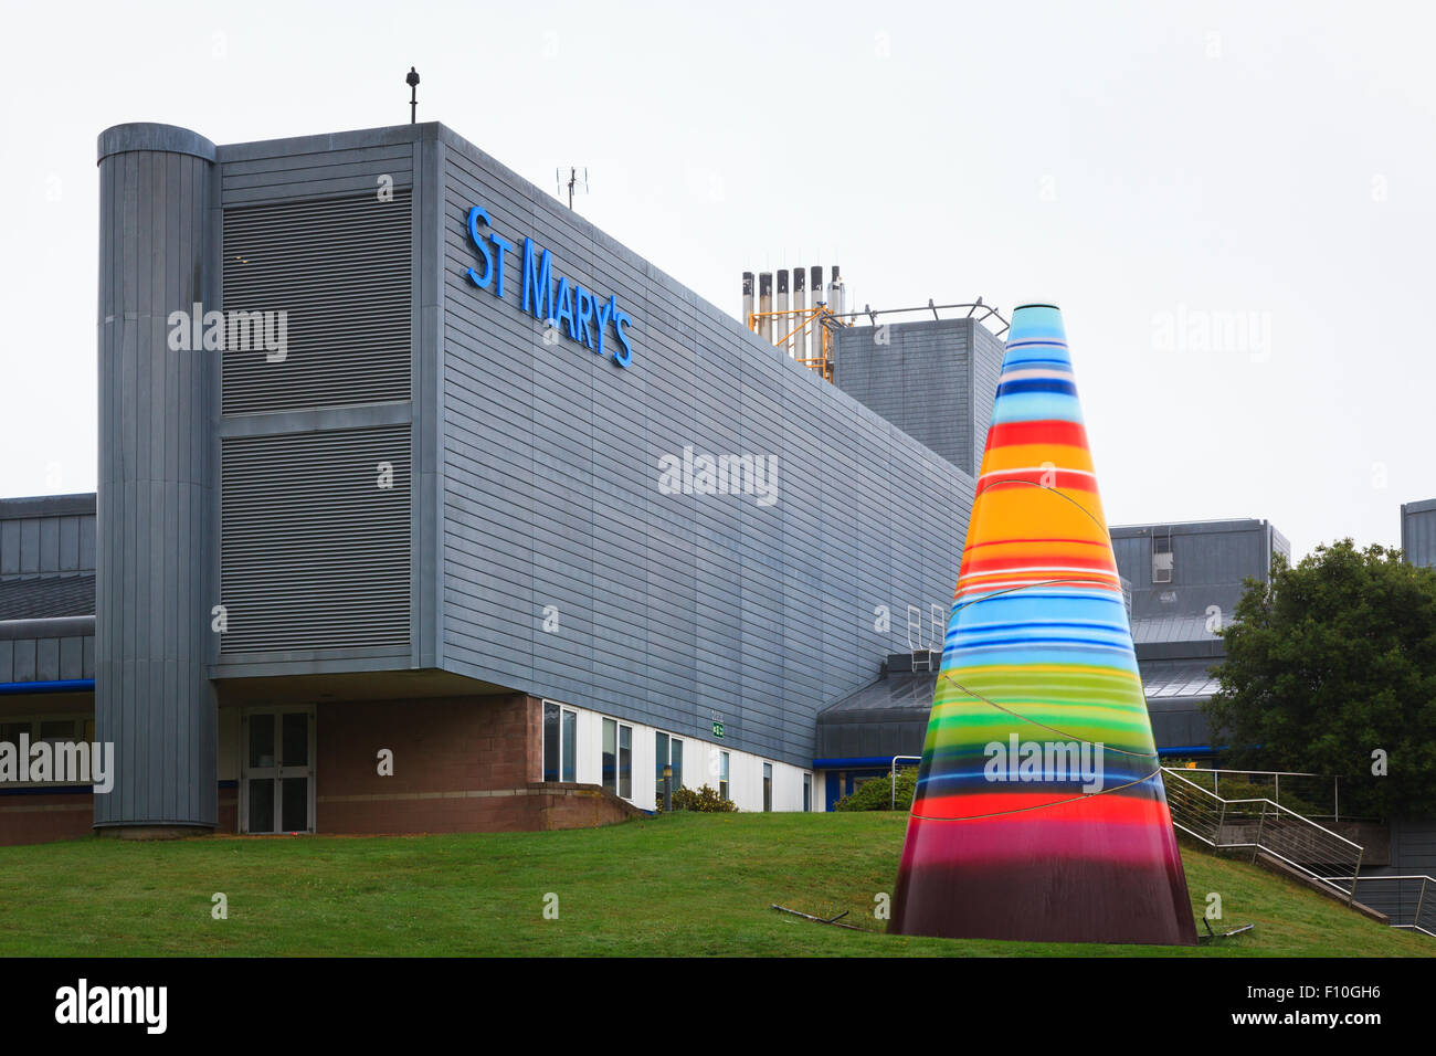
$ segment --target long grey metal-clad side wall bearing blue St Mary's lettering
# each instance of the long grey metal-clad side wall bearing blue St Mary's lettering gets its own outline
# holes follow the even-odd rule
[[[810,766],[817,711],[908,648],[906,606],[946,616],[971,477],[441,136],[444,667],[699,741],[718,714],[724,746]],[[516,244],[503,300],[467,279],[472,205]],[[632,315],[628,369],[544,342],[527,236]],[[661,493],[688,445],[777,455],[777,501]]]

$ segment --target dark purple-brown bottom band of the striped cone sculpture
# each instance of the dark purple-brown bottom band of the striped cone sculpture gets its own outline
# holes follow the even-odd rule
[[[887,930],[939,938],[1196,945],[1185,882],[1165,869],[1110,862],[903,871]]]

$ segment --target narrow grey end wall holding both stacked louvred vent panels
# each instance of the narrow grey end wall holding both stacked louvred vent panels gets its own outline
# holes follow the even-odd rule
[[[406,141],[221,148],[225,310],[284,310],[289,338],[283,359],[224,355],[228,670],[411,642],[414,157]]]

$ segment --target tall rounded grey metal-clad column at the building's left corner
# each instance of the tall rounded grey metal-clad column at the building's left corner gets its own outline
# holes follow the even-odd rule
[[[217,378],[213,355],[171,349],[167,333],[172,312],[218,303],[218,178],[202,154],[175,152],[198,142],[182,129],[119,126],[106,142],[125,149],[99,165],[93,670],[95,736],[115,744],[116,777],[95,822],[213,826]],[[59,662],[73,655],[62,645]]]

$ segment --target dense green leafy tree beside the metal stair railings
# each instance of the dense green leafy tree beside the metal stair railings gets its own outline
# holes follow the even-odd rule
[[[1278,556],[1234,616],[1205,708],[1225,759],[1340,774],[1343,813],[1436,813],[1436,572],[1343,539]]]

